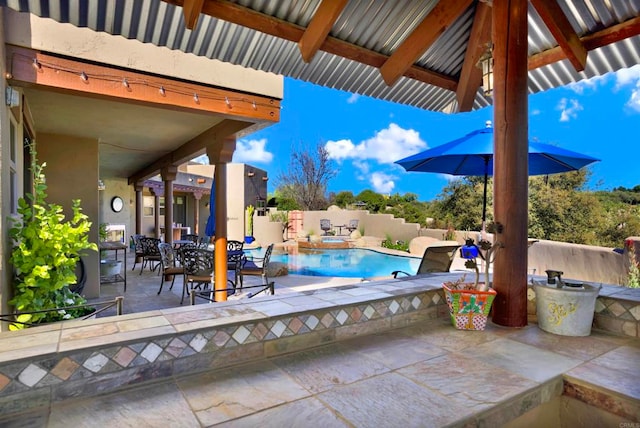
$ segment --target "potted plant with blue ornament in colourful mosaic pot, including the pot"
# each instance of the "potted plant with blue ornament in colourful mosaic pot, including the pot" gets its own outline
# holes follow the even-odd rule
[[[442,286],[451,323],[457,329],[484,330],[486,327],[491,304],[497,294],[489,282],[489,269],[501,247],[500,242],[492,244],[481,239],[476,245],[473,239],[467,239],[460,249],[460,255],[466,259],[465,266],[474,269],[476,275],[474,282],[465,282],[466,275],[463,275],[457,281],[447,281]],[[480,282],[478,257],[485,261],[485,282]]]

